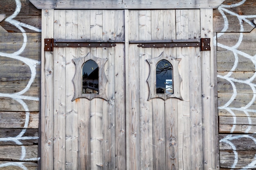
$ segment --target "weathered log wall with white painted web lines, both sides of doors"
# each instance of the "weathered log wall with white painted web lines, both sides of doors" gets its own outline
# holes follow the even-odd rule
[[[225,0],[213,10],[220,169],[256,168],[255,11],[254,0]],[[40,169],[41,10],[4,0],[0,13],[0,170]]]

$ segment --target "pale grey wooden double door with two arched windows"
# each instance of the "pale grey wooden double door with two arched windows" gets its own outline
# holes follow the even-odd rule
[[[212,9],[51,9],[42,16],[42,39],[116,42],[42,52],[42,169],[216,169],[213,51],[130,43],[212,38]],[[88,55],[107,59],[99,72],[106,75],[105,99],[73,100],[74,59]],[[148,61],[161,55],[179,60],[173,71],[182,81],[173,86],[180,98],[149,98],[155,82],[147,80],[155,73]]]

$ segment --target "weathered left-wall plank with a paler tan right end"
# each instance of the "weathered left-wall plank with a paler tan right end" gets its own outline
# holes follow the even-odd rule
[[[38,129],[39,112],[0,112],[0,128],[24,128],[26,116],[29,117],[27,128]]]

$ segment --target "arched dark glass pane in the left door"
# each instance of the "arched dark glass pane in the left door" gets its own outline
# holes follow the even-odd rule
[[[83,65],[83,94],[99,93],[99,67],[95,61],[88,60]]]

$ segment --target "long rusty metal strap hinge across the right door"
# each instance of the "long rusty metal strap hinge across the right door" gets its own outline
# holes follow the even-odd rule
[[[202,51],[211,50],[210,38],[130,41],[130,44],[139,44],[138,47],[142,48],[200,47]]]

